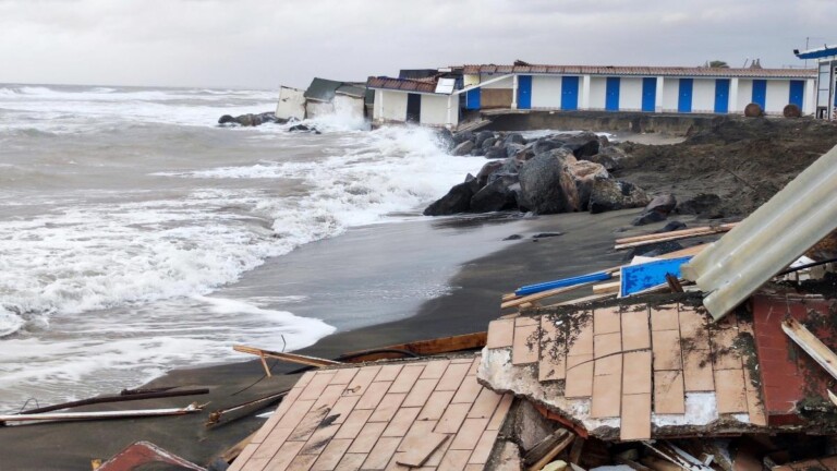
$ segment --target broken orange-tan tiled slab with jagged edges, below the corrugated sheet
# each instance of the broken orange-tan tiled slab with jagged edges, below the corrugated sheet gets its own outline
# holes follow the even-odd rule
[[[676,302],[520,316],[490,323],[487,348],[509,349],[511,366],[529,369],[544,387],[559,382],[561,403],[575,404],[567,419],[616,421],[607,423],[618,424],[621,440],[652,438],[655,420],[688,425],[690,397],[692,408],[708,401],[717,414],[766,425],[759,373],[750,371],[752,323],[735,314],[707,319]]]

